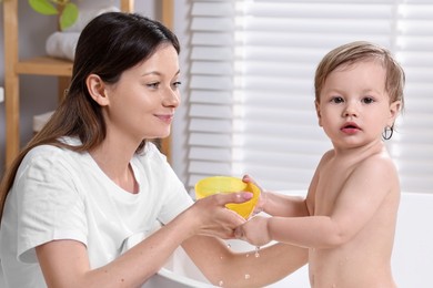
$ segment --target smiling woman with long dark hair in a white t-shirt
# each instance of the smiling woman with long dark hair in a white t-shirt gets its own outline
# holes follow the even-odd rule
[[[224,205],[251,195],[193,203],[148,141],[170,133],[178,53],[172,32],[138,14],[105,13],[82,31],[66,100],[2,182],[8,286],[137,287],[180,245],[220,286],[263,286],[306,263],[304,249],[280,244],[259,258],[233,254],[216,237],[244,220]]]

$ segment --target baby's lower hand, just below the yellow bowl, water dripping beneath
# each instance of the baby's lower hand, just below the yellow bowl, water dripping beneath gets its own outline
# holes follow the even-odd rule
[[[259,247],[266,245],[272,240],[268,230],[268,219],[269,217],[261,216],[251,218],[234,230],[234,237]]]

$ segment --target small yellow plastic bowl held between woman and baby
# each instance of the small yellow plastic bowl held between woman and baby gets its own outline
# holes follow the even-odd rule
[[[234,210],[243,218],[248,219],[260,197],[260,188],[252,183],[244,183],[242,179],[230,176],[212,176],[199,181],[195,184],[197,199],[204,198],[218,193],[251,192],[253,197],[240,204],[226,204],[231,210]]]

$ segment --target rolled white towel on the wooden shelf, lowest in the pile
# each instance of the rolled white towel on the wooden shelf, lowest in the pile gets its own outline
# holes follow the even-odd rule
[[[73,61],[80,32],[54,32],[46,42],[47,54]]]

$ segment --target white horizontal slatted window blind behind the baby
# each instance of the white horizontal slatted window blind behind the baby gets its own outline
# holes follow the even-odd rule
[[[367,40],[406,72],[405,112],[386,143],[402,189],[432,192],[433,0],[193,0],[190,11],[190,188],[250,174],[266,189],[306,189],[331,148],[314,110],[315,68],[331,49]]]

